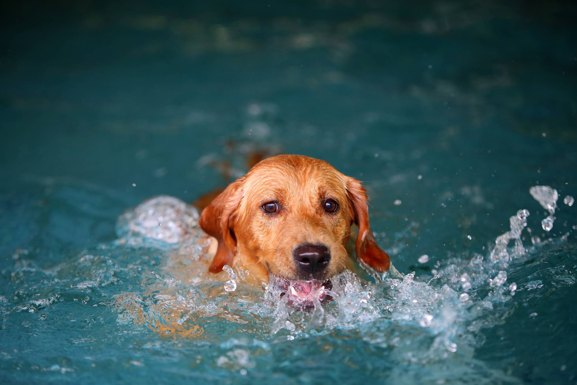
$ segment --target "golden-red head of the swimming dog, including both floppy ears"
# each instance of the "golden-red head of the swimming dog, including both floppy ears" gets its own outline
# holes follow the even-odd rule
[[[291,281],[323,281],[347,266],[345,245],[358,225],[357,258],[376,271],[391,265],[369,227],[365,189],[325,161],[265,159],[203,210],[200,225],[218,239],[212,272],[237,251]]]

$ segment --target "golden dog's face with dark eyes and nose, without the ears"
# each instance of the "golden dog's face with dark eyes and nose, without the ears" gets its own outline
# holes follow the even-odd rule
[[[249,172],[235,235],[276,276],[324,280],[346,267],[354,213],[343,175],[305,159],[273,158]]]

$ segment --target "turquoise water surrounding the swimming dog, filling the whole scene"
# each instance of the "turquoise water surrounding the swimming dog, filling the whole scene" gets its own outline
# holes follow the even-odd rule
[[[577,382],[577,205],[563,203],[577,195],[575,14],[510,2],[3,12],[0,379]],[[206,245],[185,202],[257,150],[364,180],[404,279],[359,268],[366,281],[336,277],[335,301],[307,312],[241,277],[231,292],[226,276],[198,280]],[[556,189],[554,214],[533,186]],[[179,200],[144,219],[161,211],[186,229],[163,240],[130,216],[160,194]],[[511,227],[519,238],[495,249]]]

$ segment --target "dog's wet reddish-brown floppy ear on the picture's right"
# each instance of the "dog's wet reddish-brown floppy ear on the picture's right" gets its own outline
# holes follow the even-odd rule
[[[378,272],[385,272],[391,268],[391,259],[377,245],[373,232],[370,230],[366,190],[362,187],[361,182],[347,177],[347,193],[353,206],[354,221],[359,227],[356,246],[357,259]]]

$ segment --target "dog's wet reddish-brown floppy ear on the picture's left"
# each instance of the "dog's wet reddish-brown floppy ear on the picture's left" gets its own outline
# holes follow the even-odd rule
[[[221,272],[224,265],[233,264],[237,239],[231,225],[234,224],[235,210],[241,203],[244,180],[245,177],[241,177],[229,184],[200,214],[200,227],[218,240],[218,249],[209,268],[212,273]]]

